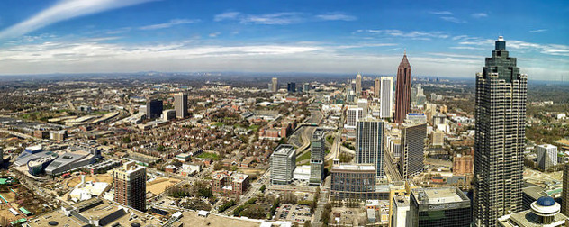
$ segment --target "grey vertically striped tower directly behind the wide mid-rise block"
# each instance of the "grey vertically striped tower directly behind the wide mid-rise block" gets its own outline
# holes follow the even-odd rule
[[[356,163],[374,164],[376,177],[384,176],[384,136],[383,121],[372,117],[357,121]]]

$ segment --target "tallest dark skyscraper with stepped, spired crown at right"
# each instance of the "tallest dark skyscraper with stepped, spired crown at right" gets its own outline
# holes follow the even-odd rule
[[[519,74],[502,37],[483,73],[476,74],[474,221],[496,220],[521,210],[528,76]]]

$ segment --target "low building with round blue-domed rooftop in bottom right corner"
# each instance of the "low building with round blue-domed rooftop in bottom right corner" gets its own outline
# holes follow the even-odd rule
[[[561,205],[549,196],[543,196],[531,204],[531,209],[509,213],[498,219],[502,227],[561,227],[566,226],[567,216],[559,213]]]

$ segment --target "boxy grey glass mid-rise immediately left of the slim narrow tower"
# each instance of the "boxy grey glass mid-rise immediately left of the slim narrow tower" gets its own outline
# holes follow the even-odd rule
[[[293,145],[278,145],[271,154],[270,162],[271,184],[287,185],[293,181],[294,168],[296,168],[296,150]]]

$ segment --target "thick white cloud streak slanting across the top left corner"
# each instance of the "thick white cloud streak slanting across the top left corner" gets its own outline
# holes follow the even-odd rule
[[[155,0],[64,0],[0,32],[0,39],[10,39],[87,14],[96,14],[129,5]]]

